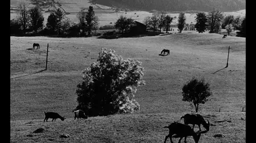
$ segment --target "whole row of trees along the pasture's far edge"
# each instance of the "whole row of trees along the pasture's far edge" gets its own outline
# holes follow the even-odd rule
[[[85,8],[81,9],[76,15],[79,23],[71,23],[71,21],[65,17],[65,12],[58,8],[55,12],[47,18],[47,24],[44,25],[44,17],[41,8],[36,5],[31,9],[28,9],[28,2],[22,1],[18,6],[19,14],[18,18],[10,21],[11,34],[22,35],[22,34],[35,34],[40,36],[70,36],[70,37],[84,37],[92,36],[92,31],[98,29],[98,17],[95,15],[93,7],[89,6],[88,11]],[[166,12],[160,11],[147,16],[143,20],[143,24],[146,28],[151,31],[163,31],[168,32],[172,20],[174,20]],[[199,12],[196,15],[196,31],[203,33],[209,31],[210,33],[220,33],[221,28],[226,29],[228,34],[234,30],[240,31],[240,36],[245,37],[246,24],[245,17],[237,16],[234,18],[233,15],[224,16],[223,12],[213,9],[212,11],[205,14],[205,12]],[[181,12],[178,17],[177,28],[179,33],[185,28],[185,12]],[[126,18],[121,15],[114,24],[115,29],[119,29],[120,33],[129,32],[131,25],[134,23],[134,19]]]

